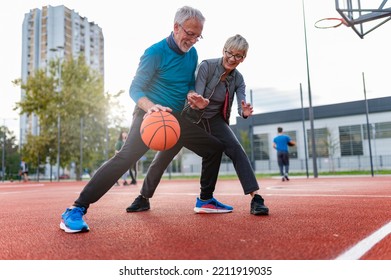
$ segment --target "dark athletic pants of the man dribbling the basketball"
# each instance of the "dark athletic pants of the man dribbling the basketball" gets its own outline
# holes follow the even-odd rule
[[[122,149],[96,171],[76,199],[75,206],[84,207],[87,210],[91,203],[98,201],[109,191],[122,174],[148,151],[149,148],[144,144],[140,135],[144,114],[143,110],[135,107],[132,125]],[[174,115],[180,124],[181,136],[172,149],[179,148],[180,150],[182,147],[186,147],[203,158],[200,178],[201,190],[202,193],[213,194],[224,145],[202,128],[181,117],[180,113],[174,113]],[[160,174],[152,175],[156,180],[161,178]]]

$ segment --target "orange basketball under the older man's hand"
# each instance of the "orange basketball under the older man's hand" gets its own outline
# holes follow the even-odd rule
[[[153,112],[141,123],[140,134],[141,139],[150,149],[164,151],[172,148],[178,142],[181,127],[171,113]]]

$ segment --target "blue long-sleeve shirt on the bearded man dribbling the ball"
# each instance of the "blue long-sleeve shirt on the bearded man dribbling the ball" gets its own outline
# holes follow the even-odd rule
[[[183,109],[187,93],[194,90],[198,54],[191,48],[184,54],[172,50],[164,39],[147,48],[130,85],[134,102],[147,97],[155,104],[170,107],[174,112]]]

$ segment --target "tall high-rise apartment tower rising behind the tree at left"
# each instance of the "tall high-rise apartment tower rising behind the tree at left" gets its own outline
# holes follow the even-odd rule
[[[35,8],[25,14],[22,29],[21,78],[24,82],[36,69],[46,67],[50,60],[76,58],[81,53],[91,68],[104,75],[102,29],[76,11],[63,5]],[[28,133],[38,133],[38,119],[24,114],[20,118],[21,145],[26,143]]]

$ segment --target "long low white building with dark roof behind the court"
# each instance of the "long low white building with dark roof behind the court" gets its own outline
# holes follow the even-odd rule
[[[391,97],[313,107],[313,124],[318,172],[391,169]],[[314,171],[309,108],[238,117],[231,127],[242,143],[243,135],[250,140],[253,131],[252,149],[247,153],[257,173],[278,172],[273,149],[277,127],[283,127],[297,143],[290,148],[290,171]],[[183,151],[182,172],[200,170],[201,159]],[[232,162],[223,160],[220,172],[235,173]]]

